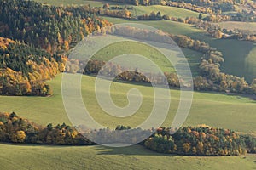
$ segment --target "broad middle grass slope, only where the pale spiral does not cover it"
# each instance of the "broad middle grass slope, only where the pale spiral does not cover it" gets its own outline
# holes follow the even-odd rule
[[[84,76],[82,79],[82,92],[85,105],[89,108],[97,122],[109,127],[115,127],[118,124],[135,126],[145,120],[149,111],[152,109],[153,93],[152,88],[145,86],[136,86],[128,83],[113,83],[113,101],[116,105],[124,106],[127,104],[126,92],[131,88],[138,88],[142,94],[143,105],[134,116],[120,119],[113,118],[105,114],[99,105],[96,105],[94,94],[94,77]],[[19,116],[29,118],[33,122],[46,125],[49,122],[62,123],[67,122],[66,112],[64,111],[61,100],[61,75],[50,82],[54,86],[55,94],[52,97],[11,97],[0,96],[0,111],[16,111]],[[172,118],[177,111],[177,102],[179,93],[172,90],[172,104],[169,116],[166,118],[165,126],[170,126]],[[240,132],[255,132],[256,129],[256,110],[255,101],[250,99],[229,96],[225,94],[195,93],[193,105],[185,125],[197,125],[201,123],[212,127],[231,128]]]

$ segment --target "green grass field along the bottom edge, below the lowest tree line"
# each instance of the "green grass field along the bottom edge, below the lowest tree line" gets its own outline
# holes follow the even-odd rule
[[[1,169],[253,169],[255,156],[170,156],[135,145],[40,146],[0,144]],[[15,154],[14,154],[15,153]]]

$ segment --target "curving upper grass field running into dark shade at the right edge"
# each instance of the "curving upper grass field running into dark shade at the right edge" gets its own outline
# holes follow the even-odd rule
[[[195,27],[183,23],[178,23],[169,20],[156,20],[156,21],[131,21],[105,17],[107,20],[114,24],[139,22],[162,31],[170,32],[176,35],[187,35],[194,39],[207,42],[211,47],[217,48],[224,54],[224,65],[222,70],[226,73],[233,74],[239,77],[245,77],[248,82],[251,82],[256,77],[256,43],[238,41],[238,40],[224,40],[215,39],[206,35],[206,31],[201,31]],[[184,52],[185,56],[189,54]],[[237,69],[239,68],[239,69]],[[250,68],[250,69],[248,69]]]

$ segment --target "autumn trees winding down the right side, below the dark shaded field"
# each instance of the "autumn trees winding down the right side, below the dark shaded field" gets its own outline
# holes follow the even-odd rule
[[[193,40],[187,36],[173,36],[177,45],[190,48],[204,54],[199,65],[200,76],[195,77],[194,88],[196,90],[226,91],[242,94],[256,94],[253,83],[249,85],[243,77],[225,74],[220,70],[224,62],[223,54],[216,48],[211,48],[207,43]]]

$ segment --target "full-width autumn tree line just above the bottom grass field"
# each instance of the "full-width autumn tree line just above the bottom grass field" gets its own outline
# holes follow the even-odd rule
[[[25,144],[90,145],[96,139],[104,144],[132,144],[138,136],[145,138],[146,148],[160,153],[192,156],[239,156],[256,152],[256,139],[251,135],[240,135],[230,129],[181,127],[176,133],[172,127],[158,129],[131,128],[118,125],[115,129],[88,129],[83,126],[70,127],[65,123],[46,127],[29,122],[12,113],[0,113],[0,141]],[[83,131],[84,130],[84,131]],[[155,133],[153,133],[155,132]],[[151,134],[153,133],[153,134]],[[84,134],[84,135],[82,135]],[[150,135],[151,134],[151,135]],[[86,136],[87,138],[85,138]],[[127,138],[133,136],[133,138]],[[148,137],[149,136],[149,137]]]

